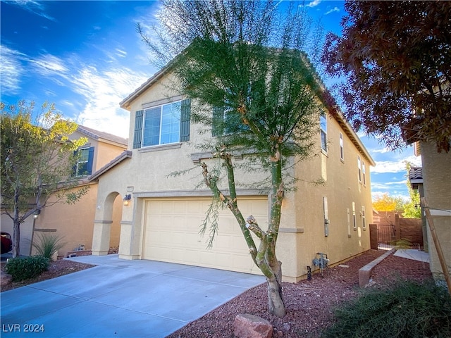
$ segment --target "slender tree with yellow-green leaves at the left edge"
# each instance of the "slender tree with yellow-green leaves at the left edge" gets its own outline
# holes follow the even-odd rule
[[[50,196],[73,204],[86,193],[71,179],[74,151],[87,140],[70,141],[77,125],[63,120],[53,105],[33,115],[34,104],[19,101],[1,108],[1,209],[13,221],[13,257],[20,255],[20,225]]]

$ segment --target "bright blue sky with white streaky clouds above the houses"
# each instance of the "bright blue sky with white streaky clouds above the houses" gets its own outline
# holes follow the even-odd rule
[[[340,33],[343,1],[305,1],[326,30]],[[54,102],[80,125],[128,137],[119,107],[156,68],[135,31],[154,23],[156,1],[1,1],[1,101]],[[327,83],[327,81],[326,81]],[[412,147],[392,152],[359,134],[376,161],[373,196],[407,197],[404,161],[420,164]]]

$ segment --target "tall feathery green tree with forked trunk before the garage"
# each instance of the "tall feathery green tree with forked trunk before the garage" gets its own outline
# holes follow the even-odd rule
[[[252,260],[266,276],[268,311],[283,317],[282,270],[276,256],[281,204],[293,187],[290,165],[314,152],[312,137],[318,135],[321,102],[327,97],[304,53],[309,49],[314,58],[319,50],[309,34],[316,30],[309,30],[309,20],[295,2],[168,0],[161,1],[158,18],[155,34],[142,25],[137,29],[175,73],[178,90],[192,100],[192,122],[214,136],[199,144],[220,163],[201,163],[204,184],[214,196],[207,216],[210,234],[218,230],[217,207],[230,209]],[[237,165],[233,154],[245,154],[249,166]],[[266,175],[264,182],[245,182],[270,192],[266,230],[240,211],[240,177],[235,174],[246,169]]]

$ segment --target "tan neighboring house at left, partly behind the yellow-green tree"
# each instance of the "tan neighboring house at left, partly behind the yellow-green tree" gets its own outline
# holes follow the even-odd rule
[[[31,243],[36,243],[41,234],[56,234],[62,238],[61,242],[65,245],[58,251],[61,256],[66,256],[68,251],[80,246],[91,249],[94,214],[97,208],[97,183],[89,182],[87,177],[122,154],[127,149],[128,141],[122,137],[81,125],[78,126],[76,132],[70,135],[70,139],[79,139],[80,137],[86,137],[88,142],[78,149],[80,156],[74,167],[73,175],[78,177],[78,187],[87,186],[89,190],[75,204],[58,202],[52,205],[56,201],[56,197],[51,196],[39,215],[35,215],[35,218],[27,218],[25,223],[20,225],[21,255],[28,256],[35,253]],[[119,245],[122,200],[116,201],[115,208],[111,224],[110,246]],[[1,229],[13,234],[12,221],[6,215],[1,216]]]

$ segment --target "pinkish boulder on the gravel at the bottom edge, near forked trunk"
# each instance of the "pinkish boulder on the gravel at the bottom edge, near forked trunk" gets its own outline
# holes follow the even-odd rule
[[[257,315],[240,314],[233,321],[233,334],[237,338],[270,338],[273,325]]]

